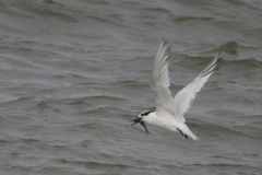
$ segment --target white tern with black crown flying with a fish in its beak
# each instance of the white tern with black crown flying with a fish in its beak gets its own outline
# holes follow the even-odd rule
[[[152,73],[151,73],[151,89],[155,94],[156,110],[142,112],[139,117],[130,120],[133,121],[131,126],[140,122],[146,135],[145,122],[163,127],[171,131],[180,132],[187,139],[192,138],[194,141],[199,138],[184,124],[183,115],[190,108],[191,103],[195,98],[196,93],[204,86],[204,83],[217,70],[217,63],[221,61],[221,52],[209,63],[209,66],[187,86],[172,97],[169,90],[170,82],[168,78],[168,59],[170,58],[170,47],[167,48],[167,42],[163,38],[159,48],[156,52]]]

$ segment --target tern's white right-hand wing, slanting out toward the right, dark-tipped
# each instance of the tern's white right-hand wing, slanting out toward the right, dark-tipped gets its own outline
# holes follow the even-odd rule
[[[217,63],[221,61],[221,52],[210,62],[210,65],[187,86],[177,93],[174,98],[175,115],[184,122],[183,114],[188,112],[190,104],[195,95],[204,86],[204,83],[217,70]]]

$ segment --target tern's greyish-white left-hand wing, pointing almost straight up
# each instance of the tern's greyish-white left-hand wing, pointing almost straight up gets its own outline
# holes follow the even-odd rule
[[[156,113],[165,112],[174,114],[174,98],[169,91],[168,59],[170,47],[166,48],[166,39],[163,38],[156,52],[152,73],[151,89],[155,93]]]

